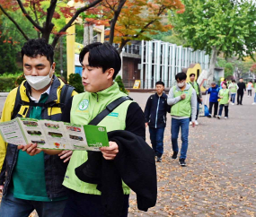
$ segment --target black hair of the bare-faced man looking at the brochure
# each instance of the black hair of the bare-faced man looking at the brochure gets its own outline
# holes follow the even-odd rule
[[[84,61],[84,56],[89,52],[88,62],[91,67],[102,68],[103,73],[106,70],[113,68],[115,70],[113,79],[119,73],[121,68],[121,58],[119,52],[110,43],[94,42],[90,45],[86,45],[79,55],[79,61],[81,65]]]

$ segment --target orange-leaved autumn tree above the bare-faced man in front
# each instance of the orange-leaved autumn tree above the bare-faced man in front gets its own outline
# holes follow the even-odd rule
[[[150,39],[158,31],[171,30],[172,25],[164,25],[162,20],[168,10],[183,10],[180,0],[103,0],[88,12],[98,17],[87,19],[94,23],[109,22],[106,35],[110,43],[119,43],[119,52],[130,40]]]

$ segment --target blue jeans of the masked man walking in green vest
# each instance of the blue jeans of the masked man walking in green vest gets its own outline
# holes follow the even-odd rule
[[[187,158],[187,151],[189,146],[189,128],[190,128],[190,118],[185,119],[175,119],[172,117],[172,151],[179,152],[178,146],[178,135],[181,127],[181,158]]]

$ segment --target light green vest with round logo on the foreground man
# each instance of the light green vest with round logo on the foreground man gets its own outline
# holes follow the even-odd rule
[[[97,93],[84,92],[75,95],[70,111],[70,122],[73,124],[87,125],[94,117],[102,112],[103,109],[112,102],[122,96],[127,96],[125,93],[119,91],[118,83],[114,82],[110,88],[99,91]],[[132,100],[126,100],[114,109],[110,115],[105,117],[98,126],[106,126],[107,131],[124,130],[126,128],[126,117],[128,106]],[[101,195],[101,192],[96,189],[97,185],[81,181],[75,175],[75,168],[87,161],[86,151],[74,151],[66,169],[66,176],[63,185],[76,192]],[[124,194],[128,195],[130,189],[123,183]]]

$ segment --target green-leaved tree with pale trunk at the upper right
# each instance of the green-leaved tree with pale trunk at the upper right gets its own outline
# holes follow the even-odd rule
[[[185,13],[172,13],[174,30],[187,46],[211,54],[208,82],[213,80],[216,57],[252,56],[256,50],[256,13],[252,1],[184,0]]]

